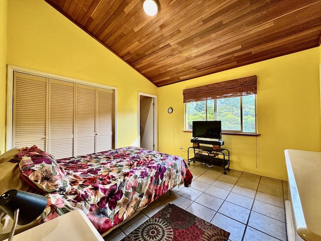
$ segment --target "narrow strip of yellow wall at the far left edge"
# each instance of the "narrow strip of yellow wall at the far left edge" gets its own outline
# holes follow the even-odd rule
[[[6,111],[7,0],[0,1],[0,112]],[[0,114],[0,153],[5,151],[6,115]]]

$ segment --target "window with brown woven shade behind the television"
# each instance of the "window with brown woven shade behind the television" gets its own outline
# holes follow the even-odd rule
[[[256,76],[183,91],[185,130],[193,121],[222,121],[225,133],[256,134]]]

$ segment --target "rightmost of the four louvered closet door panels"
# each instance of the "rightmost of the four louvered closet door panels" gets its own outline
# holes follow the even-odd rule
[[[97,89],[96,152],[113,148],[114,90]]]

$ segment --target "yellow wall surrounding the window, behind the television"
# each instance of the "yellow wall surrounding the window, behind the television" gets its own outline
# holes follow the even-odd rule
[[[257,75],[259,137],[223,135],[231,168],[287,179],[284,150],[321,151],[319,48],[158,88],[159,150],[187,158],[183,89]],[[172,106],[172,114],[167,113]]]

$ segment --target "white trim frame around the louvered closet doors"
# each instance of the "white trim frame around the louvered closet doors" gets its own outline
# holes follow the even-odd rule
[[[100,87],[105,89],[114,90],[114,148],[117,148],[117,88],[113,86],[93,83],[85,80],[79,80],[75,78],[65,77],[62,75],[56,75],[52,73],[46,73],[38,70],[24,68],[15,65],[7,66],[7,119],[6,119],[6,151],[13,148],[13,90],[14,90],[14,72],[20,72],[25,74],[32,74],[46,78],[52,78],[62,81],[69,81],[78,84],[85,84],[94,87]]]

